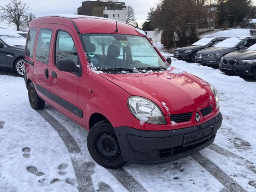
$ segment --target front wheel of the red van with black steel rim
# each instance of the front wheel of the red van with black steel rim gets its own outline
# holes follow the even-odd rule
[[[90,129],[87,148],[94,161],[103,167],[118,169],[126,164],[114,128],[107,120],[96,123]]]

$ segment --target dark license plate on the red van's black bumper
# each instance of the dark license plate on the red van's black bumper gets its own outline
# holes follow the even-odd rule
[[[213,126],[192,134],[185,135],[183,140],[183,146],[192,145],[194,143],[205,140],[207,137],[212,135],[212,130]]]

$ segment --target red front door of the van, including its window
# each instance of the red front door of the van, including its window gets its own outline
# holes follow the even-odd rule
[[[53,106],[66,116],[84,125],[84,110],[81,100],[86,96],[86,80],[82,81],[82,66],[80,63],[81,52],[77,49],[78,40],[74,32],[68,27],[57,24],[55,33],[55,62],[52,63],[51,98]],[[61,59],[70,59],[80,66],[79,72],[64,72],[57,68],[57,62]],[[85,108],[85,107],[84,107]]]

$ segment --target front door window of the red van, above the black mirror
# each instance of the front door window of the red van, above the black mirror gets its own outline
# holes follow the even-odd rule
[[[70,34],[64,31],[58,31],[55,48],[55,65],[60,59],[71,59],[76,65],[79,65],[76,46]]]

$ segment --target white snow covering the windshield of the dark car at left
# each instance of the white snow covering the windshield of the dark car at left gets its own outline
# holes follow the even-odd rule
[[[26,38],[22,37],[21,35],[5,30],[0,29],[0,38],[4,41],[4,43],[10,46],[25,46],[26,45]]]

